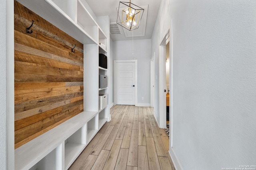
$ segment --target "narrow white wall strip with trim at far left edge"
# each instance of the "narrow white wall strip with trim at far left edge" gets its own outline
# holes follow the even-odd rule
[[[14,169],[14,1],[0,4],[0,167]]]

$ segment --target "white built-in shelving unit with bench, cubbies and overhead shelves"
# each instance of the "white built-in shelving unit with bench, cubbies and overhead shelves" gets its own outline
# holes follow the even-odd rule
[[[108,105],[99,109],[99,94],[109,89],[100,89],[98,79],[108,76],[108,69],[98,65],[98,55],[108,56],[109,22],[101,25],[108,30],[104,33],[82,0],[17,1],[84,44],[84,111],[14,150],[15,170],[67,170],[111,119]]]

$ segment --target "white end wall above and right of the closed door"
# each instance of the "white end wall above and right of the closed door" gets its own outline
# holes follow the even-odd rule
[[[134,40],[133,47],[132,41],[113,41],[114,60],[138,60],[138,106],[150,106],[150,47],[150,39]]]

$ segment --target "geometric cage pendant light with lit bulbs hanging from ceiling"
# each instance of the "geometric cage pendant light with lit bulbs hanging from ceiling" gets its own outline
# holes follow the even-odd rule
[[[129,31],[137,29],[140,25],[144,9],[130,2],[119,2],[116,23]]]

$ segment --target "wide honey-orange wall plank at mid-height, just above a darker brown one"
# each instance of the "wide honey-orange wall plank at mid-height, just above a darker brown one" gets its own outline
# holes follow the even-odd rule
[[[75,92],[82,92],[81,86],[59,87],[59,88],[42,88],[32,90],[14,91],[14,104],[37,100],[40,98],[49,98]]]

